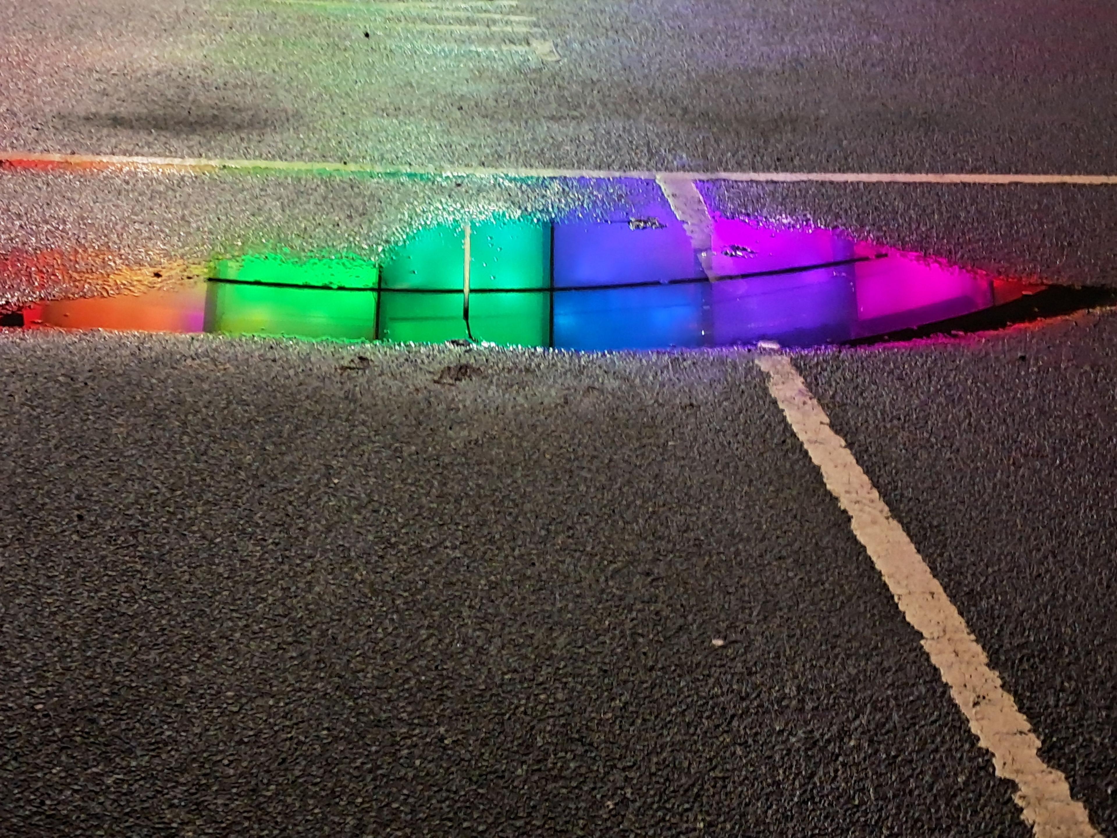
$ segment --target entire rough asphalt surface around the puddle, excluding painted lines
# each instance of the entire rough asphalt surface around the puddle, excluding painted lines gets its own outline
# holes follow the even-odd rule
[[[1117,172],[1100,2],[408,15],[7,3],[0,150]],[[1111,188],[701,189],[1117,285]],[[0,166],[0,303],[655,192]],[[1108,836],[1115,323],[795,356]],[[0,835],[1029,834],[747,353],[4,331],[0,370]]]

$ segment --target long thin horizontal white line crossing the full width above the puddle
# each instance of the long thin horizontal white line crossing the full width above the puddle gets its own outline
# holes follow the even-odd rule
[[[677,175],[695,181],[727,180],[744,183],[951,183],[976,185],[1077,185],[1114,187],[1117,174],[909,174],[856,172],[665,172],[611,169],[493,169],[487,166],[392,166],[378,163],[337,161],[237,160],[210,158],[123,156],[116,154],[52,154],[48,152],[0,151],[0,164],[16,168],[74,166],[77,169],[171,169],[211,172],[221,169],[277,172],[352,172],[385,178],[429,174],[446,178],[584,178],[605,180],[633,178],[656,180]]]

